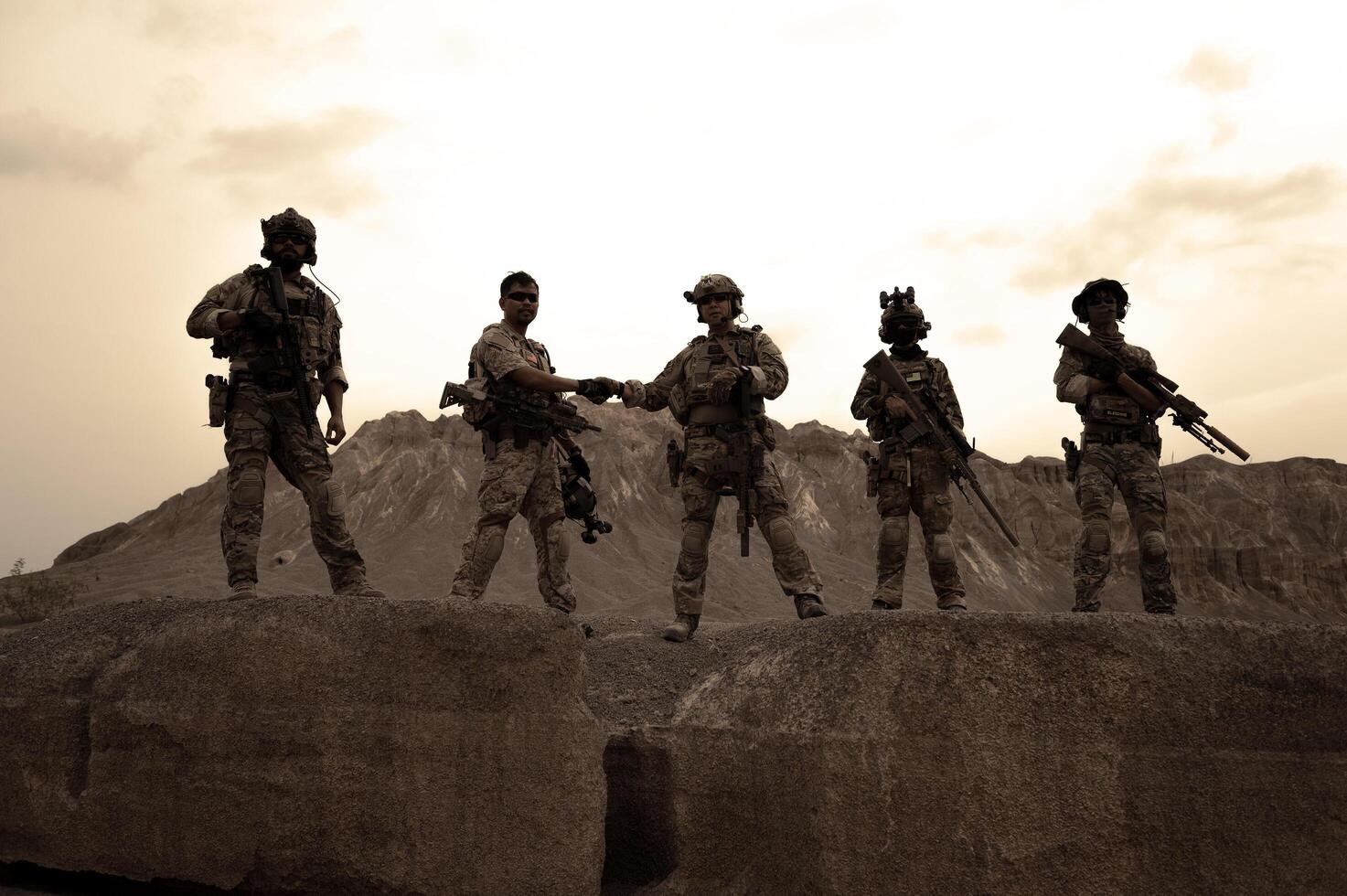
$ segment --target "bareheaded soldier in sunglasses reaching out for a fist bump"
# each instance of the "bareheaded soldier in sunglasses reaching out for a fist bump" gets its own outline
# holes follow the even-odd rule
[[[558,392],[578,392],[594,404],[613,397],[621,383],[606,377],[570,380],[556,368],[541,342],[529,340],[528,325],[537,317],[537,282],[523,271],[501,282],[504,319],[482,330],[469,361],[469,380],[489,395],[520,400],[560,402]],[[505,531],[516,515],[528,520],[537,552],[537,590],[552,609],[575,609],[566,571],[567,542],[562,528],[566,511],[558,478],[554,442],[566,450],[571,468],[589,477],[589,463],[570,437],[552,427],[529,428],[506,411],[466,408],[465,418],[482,433],[486,457],[477,489],[478,516],[463,542],[463,559],[454,574],[451,597],[477,600],[486,590],[505,546]]]

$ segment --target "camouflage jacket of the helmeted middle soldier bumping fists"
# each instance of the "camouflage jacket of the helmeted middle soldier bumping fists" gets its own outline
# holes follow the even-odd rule
[[[691,410],[706,402],[706,385],[717,372],[731,366],[749,371],[749,396],[754,415],[762,414],[762,402],[785,392],[791,373],[776,346],[761,327],[735,326],[723,337],[699,335],[674,356],[649,383],[628,380],[632,399],[628,407],[647,411],[668,408],[674,418],[687,424]]]

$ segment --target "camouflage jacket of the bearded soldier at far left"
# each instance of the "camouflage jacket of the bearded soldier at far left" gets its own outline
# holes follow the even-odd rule
[[[319,290],[308,278],[286,282],[286,299],[290,305],[291,326],[299,333],[299,357],[306,373],[317,373],[326,387],[341,383],[350,384],[341,362],[341,318],[327,294]],[[224,283],[206,291],[206,298],[187,315],[187,334],[198,340],[214,340],[211,352],[216,357],[229,358],[230,371],[242,371],[255,360],[272,356],[277,371],[284,371],[280,352],[280,337],[276,333],[261,334],[252,329],[221,331],[220,315],[225,311],[260,310],[280,323],[280,311],[271,300],[267,288],[265,268],[249,265]]]

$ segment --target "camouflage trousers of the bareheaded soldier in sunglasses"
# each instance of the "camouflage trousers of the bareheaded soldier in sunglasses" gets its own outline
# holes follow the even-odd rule
[[[450,594],[474,601],[482,596],[505,547],[505,531],[523,513],[537,552],[537,590],[543,602],[567,613],[574,610],[575,594],[566,571],[570,548],[562,527],[566,509],[551,439],[535,439],[525,447],[500,442],[496,457],[482,469],[477,507],[477,523],[463,542],[463,562],[454,574]]]

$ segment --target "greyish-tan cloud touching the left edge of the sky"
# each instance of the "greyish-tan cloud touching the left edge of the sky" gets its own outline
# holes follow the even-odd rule
[[[81,131],[34,110],[0,115],[0,177],[121,186],[145,151],[144,141]]]

